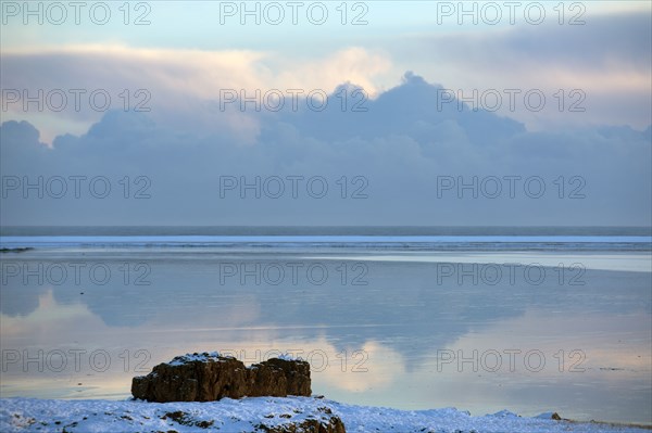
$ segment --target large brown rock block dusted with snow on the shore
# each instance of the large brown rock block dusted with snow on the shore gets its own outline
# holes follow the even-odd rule
[[[217,353],[177,356],[131,381],[135,398],[148,402],[213,402],[223,397],[310,396],[310,364],[272,358],[246,368]]]

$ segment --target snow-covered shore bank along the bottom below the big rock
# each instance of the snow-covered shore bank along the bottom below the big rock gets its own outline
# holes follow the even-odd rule
[[[339,417],[351,432],[650,432],[600,423],[521,418],[509,411],[472,417],[453,408],[397,410],[317,397],[224,398],[209,403],[0,399],[1,432],[267,432],[308,419]],[[544,419],[546,418],[546,419]],[[281,431],[281,430],[279,430]]]

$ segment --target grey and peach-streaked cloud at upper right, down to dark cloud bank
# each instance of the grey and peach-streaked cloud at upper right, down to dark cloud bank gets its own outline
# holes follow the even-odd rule
[[[528,111],[521,100],[499,112],[546,130],[560,125],[628,124],[644,128],[650,107],[652,25],[649,13],[587,14],[586,25],[521,25],[487,31],[426,31],[387,42],[396,65],[410,64],[427,78],[471,95],[488,89],[540,89],[548,103]],[[560,89],[582,90],[584,113],[560,109]]]

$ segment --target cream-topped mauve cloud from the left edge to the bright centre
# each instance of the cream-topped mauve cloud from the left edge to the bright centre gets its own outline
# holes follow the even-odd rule
[[[273,89],[330,92],[340,82],[355,81],[374,94],[372,77],[388,65],[386,56],[362,48],[342,49],[316,61],[253,50],[116,44],[10,50],[2,54],[0,67],[2,110],[8,119],[41,125],[47,142],[65,132],[83,133],[109,110],[149,112],[177,129],[215,132],[226,128],[251,141],[250,131],[258,127],[251,116],[233,112],[215,116],[208,107],[210,101],[220,101],[224,90],[250,97],[256,90],[264,94]],[[48,74],[42,74],[43,68]],[[25,103],[24,91],[40,105]],[[71,125],[76,126],[72,131]]]

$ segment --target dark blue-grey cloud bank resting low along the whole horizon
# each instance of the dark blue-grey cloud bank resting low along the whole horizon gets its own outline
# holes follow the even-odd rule
[[[244,113],[258,125],[246,139],[113,111],[49,149],[34,126],[4,123],[3,176],[42,176],[46,190],[43,199],[24,198],[22,184],[4,191],[3,224],[650,224],[650,128],[528,131],[457,101],[440,104],[442,87],[412,73],[364,101],[366,112],[342,112],[340,90],[323,111],[301,101],[298,111]],[[55,176],[103,176],[98,184],[112,193],[54,199],[46,183]],[[150,196],[134,200],[138,188]]]

